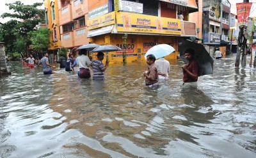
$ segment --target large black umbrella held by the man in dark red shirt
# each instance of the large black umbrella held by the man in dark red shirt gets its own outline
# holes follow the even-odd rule
[[[180,57],[184,59],[185,63],[188,63],[188,60],[185,58],[185,51],[187,49],[193,49],[195,51],[195,59],[199,66],[200,75],[209,75],[213,73],[213,62],[210,54],[206,51],[204,45],[196,42],[191,42],[190,40],[185,40],[182,43],[179,43],[179,52]]]

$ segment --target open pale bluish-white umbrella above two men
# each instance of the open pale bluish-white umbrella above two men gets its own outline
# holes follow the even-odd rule
[[[175,49],[168,44],[159,44],[159,45],[155,45],[154,47],[148,49],[148,51],[145,54],[145,59],[147,59],[147,56],[149,54],[153,54],[156,59],[158,58],[162,58],[164,56],[168,56],[169,54],[171,54],[172,52],[174,52]]]

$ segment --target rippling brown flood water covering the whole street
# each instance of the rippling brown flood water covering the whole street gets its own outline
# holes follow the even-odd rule
[[[0,157],[256,157],[256,70],[235,59],[214,60],[197,90],[180,87],[179,61],[156,89],[146,62],[110,65],[105,81],[8,63]]]

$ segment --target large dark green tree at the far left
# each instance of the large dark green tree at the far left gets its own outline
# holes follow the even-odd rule
[[[24,5],[20,1],[16,1],[15,3],[8,3],[6,6],[9,7],[9,10],[13,10],[13,13],[3,13],[1,15],[2,18],[13,18],[13,20],[0,26],[0,36],[6,45],[6,52],[11,54],[14,52],[27,54],[31,44],[28,33],[35,31],[36,25],[39,22],[43,22],[38,17],[42,17],[44,12],[36,8],[42,6],[42,3]]]

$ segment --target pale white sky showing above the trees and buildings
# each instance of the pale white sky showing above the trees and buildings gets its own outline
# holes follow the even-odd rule
[[[2,15],[3,13],[11,13],[8,6],[6,6],[6,3],[14,3],[17,0],[0,0],[0,15]],[[24,4],[33,4],[33,3],[43,3],[44,0],[19,0]],[[90,1],[90,0],[89,0]],[[203,0],[204,1],[204,0]],[[229,0],[229,2],[231,3],[231,13],[236,13],[236,3],[243,3],[243,0]],[[251,12],[250,12],[250,17],[256,17],[256,0],[249,0],[249,2],[253,3],[253,6],[251,8]],[[42,6],[42,8],[44,8]],[[0,18],[0,22],[4,23],[6,21],[8,21],[10,19],[8,18],[4,18],[1,19]]]

